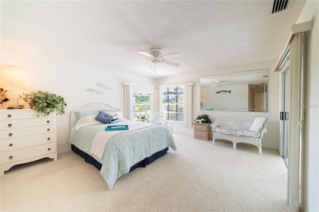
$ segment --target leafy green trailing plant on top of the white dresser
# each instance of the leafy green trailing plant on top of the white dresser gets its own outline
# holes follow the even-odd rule
[[[66,103],[64,98],[54,93],[38,90],[37,92],[23,93],[20,98],[29,103],[30,108],[36,112],[37,117],[40,116],[40,113],[46,116],[54,111],[57,115],[65,114]]]

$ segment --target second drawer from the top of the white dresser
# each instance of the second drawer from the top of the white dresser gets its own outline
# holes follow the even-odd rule
[[[1,120],[1,130],[44,126],[44,125],[54,125],[54,124],[55,124],[54,117],[42,117],[42,118],[21,119],[21,120]]]

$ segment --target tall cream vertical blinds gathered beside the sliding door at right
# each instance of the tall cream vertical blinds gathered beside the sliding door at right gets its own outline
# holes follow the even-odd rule
[[[291,211],[299,211],[300,144],[302,142],[302,78],[303,78],[303,32],[296,33],[290,42],[290,120],[288,147],[288,205]]]

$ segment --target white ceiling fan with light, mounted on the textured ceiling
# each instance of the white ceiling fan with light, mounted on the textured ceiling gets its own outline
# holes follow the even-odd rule
[[[137,61],[129,61],[129,62],[138,62],[138,61],[151,61],[151,67],[150,69],[153,69],[156,72],[156,65],[158,63],[164,63],[173,67],[179,67],[179,64],[171,62],[171,61],[167,61],[166,58],[177,58],[177,57],[181,57],[180,53],[173,53],[173,54],[169,54],[169,55],[161,55],[162,50],[159,48],[153,48],[150,49],[150,53],[146,53],[146,52],[138,52],[142,55],[148,56],[148,57],[152,57],[149,59],[143,59],[143,60],[137,60]]]

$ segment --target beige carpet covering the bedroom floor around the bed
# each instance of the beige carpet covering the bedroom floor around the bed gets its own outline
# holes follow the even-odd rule
[[[112,191],[99,171],[72,151],[57,161],[17,165],[1,176],[7,211],[288,211],[287,168],[274,149],[174,133],[171,149],[119,178]]]

